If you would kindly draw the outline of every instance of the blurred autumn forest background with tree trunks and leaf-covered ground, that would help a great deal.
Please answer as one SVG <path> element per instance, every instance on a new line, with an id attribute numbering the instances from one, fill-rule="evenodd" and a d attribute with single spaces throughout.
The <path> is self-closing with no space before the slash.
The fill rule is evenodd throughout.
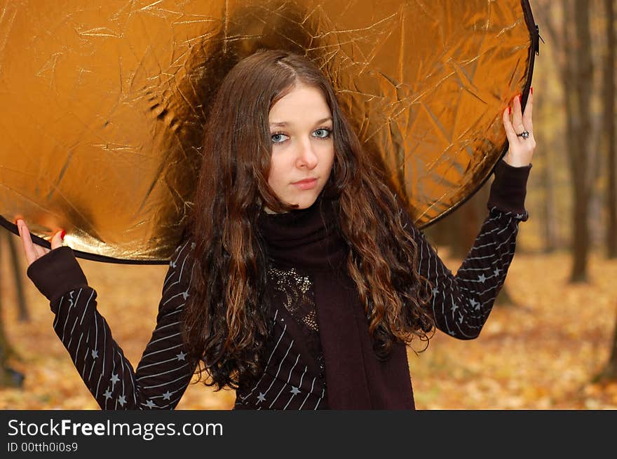
<path id="1" fill-rule="evenodd" d="M 438 332 L 427 350 L 409 350 L 419 409 L 617 409 L 617 0 L 530 3 L 542 41 L 529 220 L 480 337 Z M 487 214 L 490 184 L 426 229 L 453 273 Z M 0 232 L 0 409 L 98 409 L 19 242 Z M 167 266 L 80 263 L 136 366 Z M 234 397 L 193 384 L 178 409 L 230 409 Z"/>

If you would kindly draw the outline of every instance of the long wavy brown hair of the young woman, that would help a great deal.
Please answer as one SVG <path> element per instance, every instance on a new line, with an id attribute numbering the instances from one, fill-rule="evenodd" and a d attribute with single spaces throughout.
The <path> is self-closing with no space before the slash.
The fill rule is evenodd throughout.
<path id="1" fill-rule="evenodd" d="M 323 193 L 339 206 L 347 266 L 369 318 L 378 357 L 395 340 L 428 343 L 433 319 L 424 306 L 430 283 L 419 275 L 416 243 L 401 221 L 401 204 L 362 149 L 330 81 L 305 57 L 259 51 L 236 64 L 212 104 L 203 164 L 189 221 L 194 242 L 191 294 L 183 334 L 204 383 L 236 389 L 263 371 L 266 254 L 255 224 L 264 206 L 288 212 L 268 184 L 269 111 L 294 85 L 319 88 L 332 111 L 334 165 Z"/>

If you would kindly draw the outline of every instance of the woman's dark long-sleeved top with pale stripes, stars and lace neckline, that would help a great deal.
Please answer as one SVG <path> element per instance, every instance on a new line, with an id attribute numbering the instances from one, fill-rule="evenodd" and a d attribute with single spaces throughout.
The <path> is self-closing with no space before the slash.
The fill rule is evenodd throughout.
<path id="1" fill-rule="evenodd" d="M 419 271 L 433 285 L 430 310 L 438 329 L 471 339 L 491 311 L 515 252 L 518 224 L 526 221 L 524 198 L 531 165 L 500 160 L 480 233 L 456 275 L 442 263 L 422 231 L 407 230 L 418 244 Z M 50 300 L 53 327 L 81 378 L 102 409 L 173 409 L 194 368 L 187 364 L 179 315 L 189 296 L 193 247 L 177 247 L 163 282 L 156 328 L 136 371 L 97 312 L 72 249 L 60 247 L 34 261 L 28 276 Z M 311 275 L 293 267 L 269 266 L 273 330 L 262 378 L 236 391 L 236 409 L 327 409 L 327 374 L 320 345 Z"/>

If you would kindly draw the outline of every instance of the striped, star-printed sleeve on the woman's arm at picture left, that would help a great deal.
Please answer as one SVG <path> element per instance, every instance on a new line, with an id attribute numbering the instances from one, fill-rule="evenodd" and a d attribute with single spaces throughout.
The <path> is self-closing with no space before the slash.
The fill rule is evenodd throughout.
<path id="1" fill-rule="evenodd" d="M 28 276 L 49 300 L 53 328 L 101 409 L 174 409 L 194 368 L 189 366 L 179 327 L 193 265 L 184 242 L 176 249 L 163 283 L 156 329 L 133 371 L 97 311 L 72 249 L 59 247 L 32 263 Z"/>

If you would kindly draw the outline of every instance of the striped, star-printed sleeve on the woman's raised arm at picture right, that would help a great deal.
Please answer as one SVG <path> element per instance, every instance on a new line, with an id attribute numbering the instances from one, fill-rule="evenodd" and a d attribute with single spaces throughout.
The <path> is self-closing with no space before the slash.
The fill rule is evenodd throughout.
<path id="1" fill-rule="evenodd" d="M 530 170 L 531 165 L 513 167 L 503 160 L 496 165 L 489 213 L 456 275 L 423 232 L 408 225 L 418 245 L 419 273 L 433 284 L 430 313 L 435 326 L 450 336 L 476 338 L 489 317 L 514 257 L 518 224 L 529 217 L 524 198 Z"/>

